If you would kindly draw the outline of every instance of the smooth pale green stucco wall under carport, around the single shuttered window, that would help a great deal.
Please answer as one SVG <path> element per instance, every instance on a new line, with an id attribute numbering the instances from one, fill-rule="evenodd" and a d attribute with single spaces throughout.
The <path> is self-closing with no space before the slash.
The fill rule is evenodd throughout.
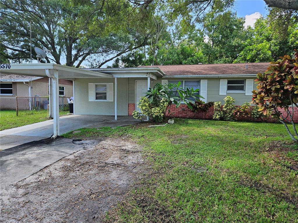
<path id="1" fill-rule="evenodd" d="M 114 101 L 89 101 L 88 83 L 114 83 L 114 78 L 77 78 L 75 80 L 75 114 L 115 114 Z M 117 78 L 117 114 L 128 115 L 128 78 Z"/>

